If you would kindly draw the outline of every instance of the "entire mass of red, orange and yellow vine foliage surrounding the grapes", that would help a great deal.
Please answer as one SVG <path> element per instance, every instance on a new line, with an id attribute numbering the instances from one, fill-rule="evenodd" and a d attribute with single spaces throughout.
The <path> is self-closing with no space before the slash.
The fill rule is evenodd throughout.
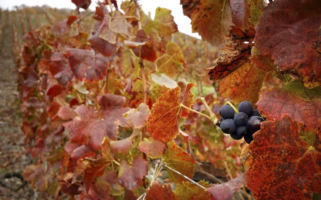
<path id="1" fill-rule="evenodd" d="M 320 1 L 181 0 L 207 43 L 178 33 L 165 8 L 151 19 L 108 0 L 84 16 L 92 2 L 72 2 L 21 47 L 22 131 L 37 160 L 24 176 L 40 198 L 321 193 Z M 214 124 L 227 100 L 267 117 L 249 145 Z"/>

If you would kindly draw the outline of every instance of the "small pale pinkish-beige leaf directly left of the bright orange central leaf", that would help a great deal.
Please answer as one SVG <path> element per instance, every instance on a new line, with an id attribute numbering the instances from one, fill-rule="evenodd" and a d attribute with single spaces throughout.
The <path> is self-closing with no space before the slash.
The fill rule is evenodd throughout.
<path id="1" fill-rule="evenodd" d="M 128 124 L 133 128 L 142 128 L 147 123 L 149 112 L 150 110 L 146 104 L 139 104 L 137 109 L 132 108 L 126 113 Z"/>

